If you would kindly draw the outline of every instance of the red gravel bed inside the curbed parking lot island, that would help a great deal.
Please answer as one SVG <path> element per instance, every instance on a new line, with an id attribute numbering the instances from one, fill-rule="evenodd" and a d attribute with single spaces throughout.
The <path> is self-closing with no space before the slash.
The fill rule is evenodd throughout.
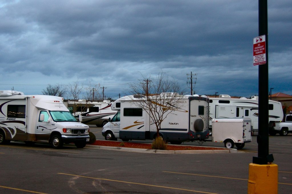
<path id="1" fill-rule="evenodd" d="M 118 142 L 118 141 L 96 140 L 95 143 L 89 144 L 89 145 L 152 149 L 151 144 Z M 175 146 L 175 145 L 167 144 L 167 150 L 223 150 L 223 149 L 225 148 L 202 147 L 202 146 Z"/>

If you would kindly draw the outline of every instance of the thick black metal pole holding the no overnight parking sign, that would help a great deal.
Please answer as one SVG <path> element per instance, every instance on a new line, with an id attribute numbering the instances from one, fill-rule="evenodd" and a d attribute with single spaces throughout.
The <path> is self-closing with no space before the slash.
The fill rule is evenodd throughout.
<path id="1" fill-rule="evenodd" d="M 258 73 L 258 157 L 253 157 L 255 164 L 267 164 L 274 161 L 273 155 L 269 155 L 269 84 L 268 84 L 268 19 L 267 0 L 258 1 L 258 26 L 259 36 L 265 35 L 266 64 L 259 65 Z"/>

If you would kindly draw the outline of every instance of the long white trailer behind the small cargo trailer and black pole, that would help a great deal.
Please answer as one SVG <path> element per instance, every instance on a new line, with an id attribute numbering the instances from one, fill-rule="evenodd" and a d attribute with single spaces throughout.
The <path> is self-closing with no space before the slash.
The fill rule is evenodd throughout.
<path id="1" fill-rule="evenodd" d="M 212 119 L 215 118 L 250 118 L 251 130 L 258 130 L 258 97 L 231 98 L 229 95 L 220 95 L 219 98 L 210 98 L 210 134 L 212 133 Z M 283 110 L 280 102 L 269 100 L 269 122 L 282 121 Z"/>

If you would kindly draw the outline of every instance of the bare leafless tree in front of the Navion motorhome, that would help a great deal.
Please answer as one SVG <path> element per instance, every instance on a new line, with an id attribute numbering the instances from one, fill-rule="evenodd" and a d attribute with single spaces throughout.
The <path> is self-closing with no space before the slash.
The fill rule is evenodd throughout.
<path id="1" fill-rule="evenodd" d="M 178 82 L 170 80 L 162 72 L 155 78 L 143 77 L 138 83 L 129 84 L 129 87 L 130 93 L 134 95 L 133 104 L 149 114 L 156 126 L 157 137 L 159 137 L 159 130 L 164 119 L 182 107 L 178 103 L 183 98 L 183 95 L 180 95 Z"/>

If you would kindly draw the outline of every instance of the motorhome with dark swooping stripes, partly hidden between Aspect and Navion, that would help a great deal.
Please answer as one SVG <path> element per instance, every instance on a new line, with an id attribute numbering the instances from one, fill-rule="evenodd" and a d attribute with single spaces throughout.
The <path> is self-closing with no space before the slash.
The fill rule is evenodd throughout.
<path id="1" fill-rule="evenodd" d="M 109 117 L 116 114 L 117 111 L 112 110 L 111 105 L 109 100 L 103 102 L 68 101 L 68 109 L 76 119 L 81 115 L 82 123 L 96 126 L 104 126 L 109 121 Z"/>

